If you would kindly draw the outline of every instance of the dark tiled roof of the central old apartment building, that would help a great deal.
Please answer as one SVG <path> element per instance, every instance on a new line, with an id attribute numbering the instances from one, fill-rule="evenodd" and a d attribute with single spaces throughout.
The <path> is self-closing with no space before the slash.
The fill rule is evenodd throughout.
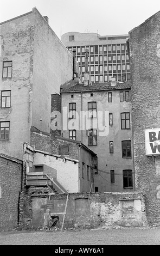
<path id="1" fill-rule="evenodd" d="M 88 86 L 84 86 L 84 84 L 74 84 L 68 83 L 65 87 L 61 87 L 61 93 L 71 93 L 71 92 L 88 92 L 88 91 L 100 91 L 100 90 L 119 90 L 119 89 L 130 89 L 131 82 L 116 82 L 116 85 L 111 85 L 111 82 L 107 83 L 92 83 Z"/>

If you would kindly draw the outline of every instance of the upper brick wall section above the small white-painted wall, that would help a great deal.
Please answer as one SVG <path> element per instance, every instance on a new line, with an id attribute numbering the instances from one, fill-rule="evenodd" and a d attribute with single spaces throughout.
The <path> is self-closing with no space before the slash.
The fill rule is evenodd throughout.
<path id="1" fill-rule="evenodd" d="M 59 146 L 68 145 L 68 157 L 78 160 L 79 147 L 78 144 L 71 140 L 65 140 L 62 137 L 47 136 L 42 133 L 31 132 L 30 145 L 34 145 L 35 149 L 46 151 L 48 153 L 59 155 Z"/>

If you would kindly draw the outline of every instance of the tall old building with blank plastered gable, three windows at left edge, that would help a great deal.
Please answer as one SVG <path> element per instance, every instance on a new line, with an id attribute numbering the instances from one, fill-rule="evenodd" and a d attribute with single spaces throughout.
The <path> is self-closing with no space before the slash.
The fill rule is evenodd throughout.
<path id="1" fill-rule="evenodd" d="M 73 78 L 73 57 L 36 8 L 0 23 L 0 152 L 22 159 L 30 127 L 50 132 L 51 94 Z"/>

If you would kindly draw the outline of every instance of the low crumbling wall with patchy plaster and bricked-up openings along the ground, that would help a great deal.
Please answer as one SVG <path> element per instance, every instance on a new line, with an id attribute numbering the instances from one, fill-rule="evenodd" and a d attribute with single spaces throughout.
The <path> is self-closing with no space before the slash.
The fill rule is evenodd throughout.
<path id="1" fill-rule="evenodd" d="M 45 225 L 49 227 L 49 211 L 51 216 L 59 217 L 56 227 L 61 228 L 63 215 L 58 212 L 65 211 L 66 199 L 67 194 L 55 194 L 49 201 L 47 194 L 37 194 L 34 191 L 30 193 L 33 228 L 39 229 Z M 25 212 L 24 219 L 28 216 L 27 211 Z M 63 228 L 146 225 L 145 200 L 142 193 L 105 192 L 91 193 L 90 196 L 89 193 L 69 193 Z"/>

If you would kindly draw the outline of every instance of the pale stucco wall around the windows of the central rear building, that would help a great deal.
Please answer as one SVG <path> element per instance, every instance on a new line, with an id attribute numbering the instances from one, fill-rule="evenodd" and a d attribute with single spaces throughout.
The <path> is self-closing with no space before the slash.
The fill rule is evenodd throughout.
<path id="1" fill-rule="evenodd" d="M 81 93 L 62 93 L 62 121 L 66 119 L 63 116 L 63 107 L 69 107 L 69 103 L 76 102 L 76 111 L 79 114 L 79 127 L 76 129 L 76 139 L 87 145 L 94 153 L 98 156 L 98 172 L 99 174 L 95 177 L 95 186 L 99 188 L 99 191 L 124 191 L 123 188 L 123 169 L 131 169 L 133 173 L 133 188 L 127 189 L 125 191 L 134 191 L 134 168 L 133 168 L 133 143 L 132 143 L 132 119 L 131 119 L 131 101 L 120 102 L 119 92 L 130 91 L 130 89 L 103 91 L 103 92 L 82 92 Z M 108 102 L 108 92 L 112 92 L 112 102 Z M 71 98 L 71 94 L 74 97 Z M 97 146 L 88 146 L 88 137 L 86 135 L 86 128 L 80 130 L 80 111 L 87 112 L 87 102 L 96 101 L 97 102 L 97 112 L 107 111 L 106 121 L 106 131 L 107 135 L 99 136 Z M 82 104 L 82 108 L 81 108 Z M 130 124 L 131 129 L 121 130 L 120 113 L 130 112 Z M 108 113 L 113 114 L 113 125 L 109 127 L 108 125 Z M 95 120 L 95 119 L 94 119 Z M 72 121 L 72 120 L 71 120 Z M 64 122 L 62 122 L 63 125 Z M 63 126 L 62 126 L 63 129 Z M 68 130 L 63 130 L 63 136 L 68 137 Z M 129 159 L 124 159 L 121 152 L 121 141 L 131 140 L 131 151 L 132 157 Z M 110 153 L 110 141 L 113 141 L 114 153 Z M 110 170 L 114 170 L 115 182 L 111 184 Z"/>

